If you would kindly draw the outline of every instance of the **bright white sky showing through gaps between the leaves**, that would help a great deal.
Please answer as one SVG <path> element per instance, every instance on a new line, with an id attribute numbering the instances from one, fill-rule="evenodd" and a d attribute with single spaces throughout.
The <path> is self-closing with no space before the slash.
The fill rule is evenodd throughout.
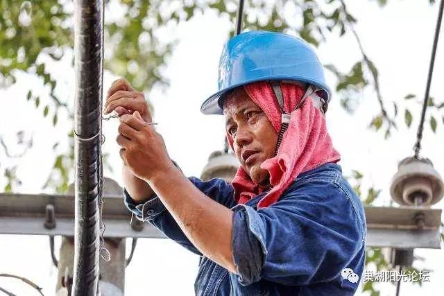
<path id="1" fill-rule="evenodd" d="M 407 106 L 403 99 L 406 94 L 416 94 L 418 98 L 424 96 L 438 5 L 429 6 L 428 1 L 392 0 L 381 9 L 376 2 L 347 1 L 350 12 L 359 21 L 356 28 L 364 49 L 379 69 L 382 95 L 387 107 L 391 107 L 391 101 Z M 223 118 L 205 116 L 199 110 L 205 98 L 216 91 L 219 55 L 231 26 L 228 19 L 207 12 L 168 32 L 169 37 L 179 40 L 164 69 L 171 84 L 166 92 L 153 89 L 148 94 L 155 107 L 157 131 L 164 137 L 169 155 L 186 175 L 199 176 L 210 153 L 223 148 Z M 444 85 L 440 83 L 444 77 L 443 46 L 441 38 L 431 89 L 431 96 L 441 102 L 444 101 Z M 317 52 L 323 64 L 335 64 L 344 71 L 361 58 L 357 43 L 350 34 L 341 38 L 330 36 Z M 62 61 L 65 67 L 51 65 L 51 70 L 60 78 L 60 92 L 68 101 L 72 101 L 74 71 L 69 61 L 67 55 Z M 105 72 L 105 90 L 115 78 Z M 327 83 L 334 85 L 334 82 L 334 77 L 327 73 Z M 42 176 L 49 174 L 53 164 L 52 144 L 56 139 L 64 139 L 70 128 L 62 112 L 57 128 L 52 127 L 51 118 L 43 119 L 41 112 L 35 112 L 33 104 L 25 99 L 30 86 L 35 94 L 46 93 L 47 89 L 42 89 L 36 78 L 26 75 L 19 75 L 17 84 L 9 89 L 0 89 L 2 107 L 6 111 L 0 120 L 0 134 L 13 143 L 15 133 L 26 130 L 33 133 L 35 139 L 33 149 L 21 159 L 8 160 L 1 155 L 2 165 L 19 165 L 17 174 L 23 186 L 17 188 L 18 193 L 42 192 L 42 185 L 46 181 L 46 177 Z M 379 112 L 375 93 L 371 89 L 364 92 L 354 114 L 345 112 L 337 98 L 334 94 L 327 112 L 327 125 L 334 146 L 342 155 L 340 164 L 343 171 L 345 175 L 353 169 L 364 173 L 364 187 L 382 189 L 376 204 L 388 206 L 391 200 L 388 188 L 398 162 L 412 155 L 420 104 L 414 101 L 407 103 L 413 114 L 412 128 L 406 128 L 400 116 L 400 128 L 386 141 L 382 133 L 368 129 L 368 123 Z M 402 107 L 400 112 L 402 114 Z M 444 126 L 441 116 L 438 121 L 436 134 L 430 131 L 426 122 L 422 155 L 432 159 L 436 170 L 443 173 Z M 103 123 L 106 137 L 103 151 L 110 153 L 110 163 L 114 169 L 114 173 L 105 175 L 123 186 L 119 146 L 114 141 L 117 125 L 117 121 Z M 61 143 L 58 149 L 63 151 L 64 148 L 67 148 L 67 143 Z M 4 186 L 3 182 L 0 180 L 1 186 Z M 442 209 L 443 204 L 441 201 L 433 207 Z M 0 273 L 28 277 L 44 288 L 45 295 L 54 295 L 57 270 L 49 256 L 48 238 L 0 236 L 0 240 Z M 60 239 L 56 239 L 56 250 L 59 245 Z M 400 295 L 441 294 L 443 251 L 416 250 L 415 254 L 425 258 L 425 261 L 413 263 L 416 268 L 433 270 L 430 282 L 424 283 L 420 289 L 411 283 L 402 283 Z M 126 295 L 194 295 L 197 269 L 198 256 L 176 243 L 163 239 L 139 240 L 133 261 L 126 269 Z M 0 277 L 0 287 L 17 295 L 37 295 L 25 284 L 11 279 Z M 379 288 L 382 296 L 395 294 L 393 284 L 381 284 Z"/>

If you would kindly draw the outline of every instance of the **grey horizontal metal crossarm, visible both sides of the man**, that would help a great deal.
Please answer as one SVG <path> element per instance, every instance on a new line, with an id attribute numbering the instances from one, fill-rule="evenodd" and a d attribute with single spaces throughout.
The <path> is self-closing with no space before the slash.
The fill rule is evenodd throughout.
<path id="1" fill-rule="evenodd" d="M 165 238 L 150 223 L 133 219 L 122 196 L 105 196 L 107 238 Z M 56 227 L 46 228 L 46 205 L 54 207 Z M 364 207 L 368 247 L 440 248 L 441 209 Z M 46 223 L 47 224 L 47 223 Z M 74 195 L 0 194 L 0 234 L 74 235 Z"/>

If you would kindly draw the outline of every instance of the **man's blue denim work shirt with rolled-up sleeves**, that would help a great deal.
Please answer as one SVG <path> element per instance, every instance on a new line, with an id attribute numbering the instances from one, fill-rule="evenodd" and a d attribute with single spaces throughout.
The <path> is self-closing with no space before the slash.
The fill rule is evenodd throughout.
<path id="1" fill-rule="evenodd" d="M 203 256 L 159 198 L 137 204 L 126 189 L 123 193 L 126 207 L 139 220 L 148 220 L 200 256 L 196 295 L 355 294 L 364 270 L 366 219 L 341 166 L 325 164 L 300 174 L 278 202 L 259 210 L 257 202 L 265 193 L 236 204 L 231 184 L 189 179 L 234 212 L 232 253 L 237 274 Z"/>

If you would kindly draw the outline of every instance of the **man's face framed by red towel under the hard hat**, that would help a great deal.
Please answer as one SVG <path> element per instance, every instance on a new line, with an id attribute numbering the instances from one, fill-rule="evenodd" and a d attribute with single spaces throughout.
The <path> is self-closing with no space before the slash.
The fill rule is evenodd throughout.
<path id="1" fill-rule="evenodd" d="M 223 104 L 225 128 L 233 139 L 234 155 L 257 184 L 268 183 L 268 171 L 260 168 L 262 162 L 274 157 L 278 133 L 264 111 L 238 87 Z"/>

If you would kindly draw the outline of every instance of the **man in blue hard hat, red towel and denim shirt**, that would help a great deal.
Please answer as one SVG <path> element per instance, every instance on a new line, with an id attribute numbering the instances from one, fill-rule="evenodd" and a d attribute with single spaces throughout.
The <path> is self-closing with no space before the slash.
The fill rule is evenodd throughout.
<path id="1" fill-rule="evenodd" d="M 225 116 L 240 166 L 231 183 L 204 182 L 170 159 L 144 95 L 126 80 L 112 84 L 105 113 L 119 114 L 126 207 L 200 256 L 196 295 L 355 294 L 366 220 L 327 132 L 330 98 L 303 40 L 232 37 L 219 91 L 201 111 Z"/>

